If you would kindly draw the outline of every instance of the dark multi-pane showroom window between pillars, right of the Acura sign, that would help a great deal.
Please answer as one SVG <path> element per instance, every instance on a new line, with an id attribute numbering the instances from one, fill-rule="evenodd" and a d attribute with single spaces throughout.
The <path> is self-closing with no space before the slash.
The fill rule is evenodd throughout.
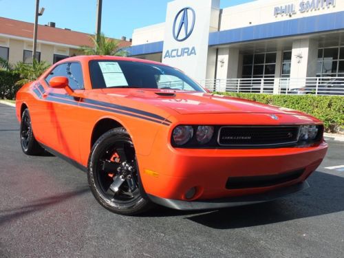
<path id="1" fill-rule="evenodd" d="M 275 69 L 276 52 L 243 56 L 242 78 L 274 78 Z"/>

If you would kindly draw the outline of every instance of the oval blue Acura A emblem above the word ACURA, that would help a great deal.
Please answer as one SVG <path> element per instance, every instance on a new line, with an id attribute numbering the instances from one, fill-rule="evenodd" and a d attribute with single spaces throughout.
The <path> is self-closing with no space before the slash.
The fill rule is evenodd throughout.
<path id="1" fill-rule="evenodd" d="M 193 33 L 196 14 L 193 8 L 186 7 L 178 12 L 173 23 L 173 38 L 176 41 L 185 41 Z"/>

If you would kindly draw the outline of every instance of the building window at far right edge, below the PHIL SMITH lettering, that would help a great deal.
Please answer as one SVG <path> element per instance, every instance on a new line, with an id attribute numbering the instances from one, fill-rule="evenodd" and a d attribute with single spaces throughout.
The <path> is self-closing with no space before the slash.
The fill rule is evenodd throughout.
<path id="1" fill-rule="evenodd" d="M 318 50 L 317 77 L 344 77 L 344 47 Z"/>

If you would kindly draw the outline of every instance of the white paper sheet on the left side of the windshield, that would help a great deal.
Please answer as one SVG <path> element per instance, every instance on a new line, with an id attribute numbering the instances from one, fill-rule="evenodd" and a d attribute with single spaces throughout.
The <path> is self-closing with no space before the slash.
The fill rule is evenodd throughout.
<path id="1" fill-rule="evenodd" d="M 106 87 L 129 86 L 117 62 L 99 62 Z"/>

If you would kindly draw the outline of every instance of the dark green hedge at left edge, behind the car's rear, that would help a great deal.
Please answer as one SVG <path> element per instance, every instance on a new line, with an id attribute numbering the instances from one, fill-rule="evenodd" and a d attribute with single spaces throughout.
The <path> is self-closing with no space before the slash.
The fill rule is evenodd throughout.
<path id="1" fill-rule="evenodd" d="M 14 99 L 20 88 L 15 85 L 18 80 L 20 80 L 19 74 L 0 69 L 0 98 Z"/>

